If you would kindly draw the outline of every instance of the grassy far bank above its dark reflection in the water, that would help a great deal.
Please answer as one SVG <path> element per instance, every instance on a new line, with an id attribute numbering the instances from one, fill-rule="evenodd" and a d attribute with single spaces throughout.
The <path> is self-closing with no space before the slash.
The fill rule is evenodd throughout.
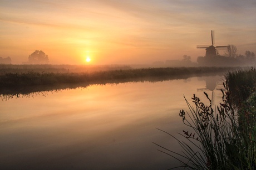
<path id="1" fill-rule="evenodd" d="M 42 68 L 40 68 L 42 69 Z M 138 78 L 178 78 L 182 75 L 203 75 L 207 73 L 218 73 L 232 68 L 146 68 L 146 69 L 115 69 L 92 72 L 50 72 L 49 70 L 23 71 L 19 69 L 16 73 L 2 71 L 0 74 L 0 87 L 20 87 L 35 85 L 57 85 L 75 83 L 108 83 L 111 80 L 126 80 Z M 1 70 L 1 69 L 0 69 Z M 2 69 L 3 70 L 3 69 Z M 25 69 L 26 70 L 26 69 Z M 50 69 L 51 70 L 51 69 Z"/>

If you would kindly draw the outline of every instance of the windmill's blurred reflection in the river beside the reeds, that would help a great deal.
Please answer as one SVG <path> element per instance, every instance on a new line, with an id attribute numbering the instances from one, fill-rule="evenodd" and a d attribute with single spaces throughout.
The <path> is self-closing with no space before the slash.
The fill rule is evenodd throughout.
<path id="1" fill-rule="evenodd" d="M 215 99 L 216 97 L 219 97 L 219 99 L 221 99 L 221 95 L 220 96 L 215 96 L 215 92 L 220 92 L 220 89 L 223 88 L 223 83 L 222 81 L 220 81 L 220 76 L 209 76 L 209 77 L 205 77 L 204 78 L 206 86 L 203 89 L 197 89 L 198 91 L 205 91 L 206 93 L 208 93 L 206 90 L 210 90 L 211 91 L 211 104 L 215 105 Z"/>

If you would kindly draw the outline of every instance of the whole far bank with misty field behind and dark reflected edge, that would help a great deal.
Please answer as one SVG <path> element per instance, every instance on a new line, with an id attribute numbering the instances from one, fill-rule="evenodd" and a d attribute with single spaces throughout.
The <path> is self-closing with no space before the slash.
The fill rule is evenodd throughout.
<path id="1" fill-rule="evenodd" d="M 0 94 L 18 95 L 91 84 L 163 81 L 223 73 L 232 68 L 140 68 L 130 66 L 0 65 Z"/>

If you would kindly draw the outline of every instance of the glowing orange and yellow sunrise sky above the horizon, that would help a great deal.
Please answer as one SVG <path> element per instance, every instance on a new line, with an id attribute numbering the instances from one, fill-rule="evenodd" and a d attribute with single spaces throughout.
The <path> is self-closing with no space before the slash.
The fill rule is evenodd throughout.
<path id="1" fill-rule="evenodd" d="M 50 64 L 151 64 L 205 55 L 196 45 L 256 53 L 253 0 L 0 0 L 0 56 L 21 64 L 43 50 Z"/>

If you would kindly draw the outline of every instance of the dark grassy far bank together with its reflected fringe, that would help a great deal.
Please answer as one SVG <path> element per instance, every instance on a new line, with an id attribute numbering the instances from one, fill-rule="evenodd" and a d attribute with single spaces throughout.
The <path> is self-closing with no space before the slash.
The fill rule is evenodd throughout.
<path id="1" fill-rule="evenodd" d="M 17 95 L 37 91 L 86 87 L 93 84 L 126 83 L 132 81 L 164 81 L 187 79 L 191 76 L 223 74 L 237 67 L 198 67 L 198 68 L 141 68 L 94 71 L 92 73 L 48 73 L 21 71 L 0 75 L 0 94 Z"/>

